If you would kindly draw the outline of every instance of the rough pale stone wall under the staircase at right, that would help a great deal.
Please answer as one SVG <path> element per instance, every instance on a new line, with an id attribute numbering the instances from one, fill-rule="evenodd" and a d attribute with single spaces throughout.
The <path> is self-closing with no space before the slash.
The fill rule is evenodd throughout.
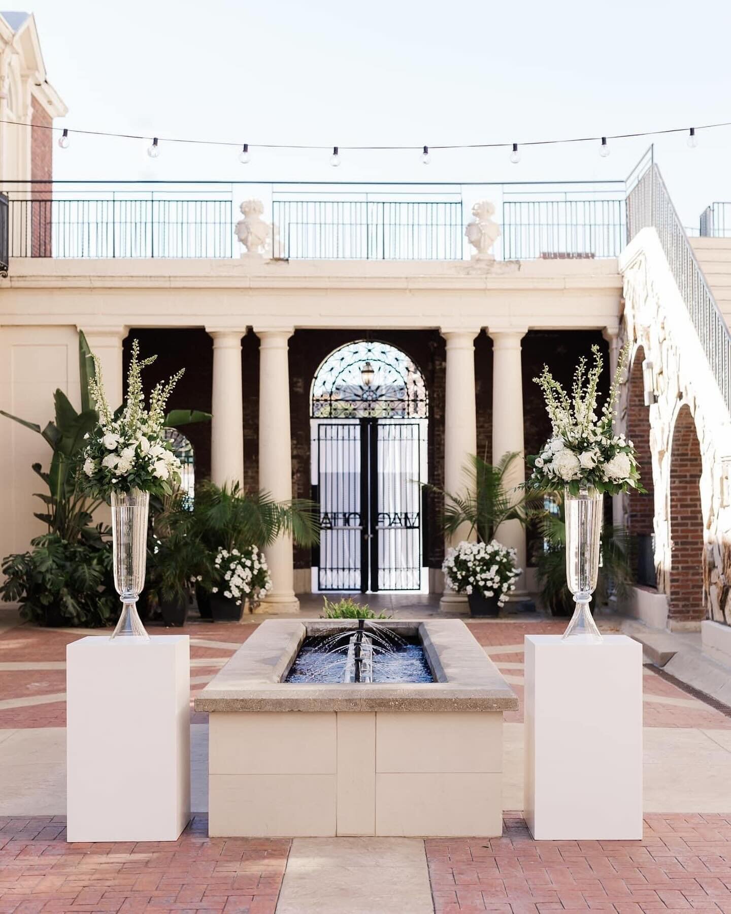
<path id="1" fill-rule="evenodd" d="M 642 238 L 642 236 L 644 236 Z M 654 399 L 647 409 L 652 448 L 652 484 L 654 489 L 654 561 L 658 590 L 669 601 L 671 628 L 698 627 L 686 620 L 673 624 L 673 546 L 678 555 L 679 543 L 673 543 L 671 479 L 673 443 L 681 436 L 679 415 L 690 410 L 700 449 L 700 506 L 703 526 L 703 575 L 697 574 L 705 614 L 715 622 L 731 624 L 731 505 L 729 505 L 729 462 L 731 461 L 731 417 L 715 376 L 705 356 L 694 325 L 674 281 L 667 260 L 652 229 L 644 229 L 630 243 L 620 260 L 624 275 L 623 342 L 629 342 L 630 367 L 637 358 L 644 359 L 645 384 L 652 384 Z M 652 364 L 652 369 L 646 365 Z M 631 372 L 628 372 L 630 377 Z M 637 377 L 637 375 L 635 375 Z M 619 422 L 627 428 L 629 384 L 622 386 Z M 687 426 L 687 414 L 683 415 Z M 687 433 L 687 432 L 685 432 Z M 646 477 L 647 468 L 644 469 Z M 678 481 L 675 480 L 675 498 Z M 694 493 L 689 493 L 693 495 Z M 697 495 L 696 495 L 697 500 Z M 676 502 L 676 505 L 689 504 Z M 681 514 L 685 511 L 681 507 Z M 692 514 L 689 508 L 688 513 Z M 678 508 L 675 509 L 678 514 Z M 629 499 L 620 499 L 620 515 L 625 526 L 629 520 Z M 683 523 L 676 522 L 676 539 L 682 538 Z M 700 533 L 698 534 L 700 537 Z M 681 565 L 680 559 L 677 566 Z M 683 573 L 676 568 L 675 574 Z M 702 583 L 701 583 L 702 582 Z M 695 586 L 695 585 L 694 585 Z"/>

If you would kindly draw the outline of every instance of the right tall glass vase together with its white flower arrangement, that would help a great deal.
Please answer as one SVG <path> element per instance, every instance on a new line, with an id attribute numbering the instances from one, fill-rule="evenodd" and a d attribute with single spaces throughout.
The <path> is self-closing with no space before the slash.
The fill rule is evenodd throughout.
<path id="1" fill-rule="evenodd" d="M 564 637 L 576 635 L 588 643 L 601 641 L 588 604 L 599 575 L 603 496 L 644 491 L 632 442 L 612 428 L 628 348 L 620 351 L 609 396 L 599 412 L 602 358 L 599 346 L 591 352 L 590 369 L 585 357 L 578 361 L 570 397 L 547 366 L 534 378 L 546 399 L 551 437 L 539 454 L 527 458 L 533 472 L 525 483 L 537 492 L 564 489 L 567 585 L 576 602 Z"/>

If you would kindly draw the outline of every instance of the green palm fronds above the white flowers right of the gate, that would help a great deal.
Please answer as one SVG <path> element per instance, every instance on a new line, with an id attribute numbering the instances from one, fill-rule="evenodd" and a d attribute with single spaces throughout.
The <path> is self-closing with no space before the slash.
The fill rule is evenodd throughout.
<path id="1" fill-rule="evenodd" d="M 441 527 L 445 536 L 452 537 L 467 527 L 469 533 L 465 538 L 476 532 L 482 542 L 489 543 L 504 521 L 527 522 L 535 505 L 543 505 L 543 497 L 522 489 L 508 488 L 506 476 L 518 459 L 520 455 L 517 452 L 506 453 L 497 466 L 493 466 L 482 457 L 470 454 L 469 463 L 464 468 L 467 483 L 464 493 L 453 494 L 429 486 L 444 497 Z"/>

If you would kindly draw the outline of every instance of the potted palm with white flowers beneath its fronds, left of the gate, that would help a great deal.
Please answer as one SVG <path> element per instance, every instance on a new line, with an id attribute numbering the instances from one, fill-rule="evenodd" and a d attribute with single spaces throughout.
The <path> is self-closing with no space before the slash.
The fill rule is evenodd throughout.
<path id="1" fill-rule="evenodd" d="M 261 550 L 281 534 L 291 535 L 300 546 L 313 546 L 319 519 L 317 505 L 306 499 L 277 502 L 267 492 L 245 492 L 238 483 L 206 482 L 196 489 L 192 530 L 206 560 L 196 585 L 201 614 L 238 621 L 247 605 L 270 590 Z"/>

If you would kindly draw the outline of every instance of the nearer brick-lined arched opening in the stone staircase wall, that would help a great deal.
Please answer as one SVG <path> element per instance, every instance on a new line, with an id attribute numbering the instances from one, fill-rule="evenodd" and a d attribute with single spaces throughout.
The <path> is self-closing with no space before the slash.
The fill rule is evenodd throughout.
<path id="1" fill-rule="evenodd" d="M 705 616 L 701 473 L 701 449 L 693 415 L 683 406 L 675 420 L 670 455 L 669 614 L 675 622 L 694 622 Z"/>

